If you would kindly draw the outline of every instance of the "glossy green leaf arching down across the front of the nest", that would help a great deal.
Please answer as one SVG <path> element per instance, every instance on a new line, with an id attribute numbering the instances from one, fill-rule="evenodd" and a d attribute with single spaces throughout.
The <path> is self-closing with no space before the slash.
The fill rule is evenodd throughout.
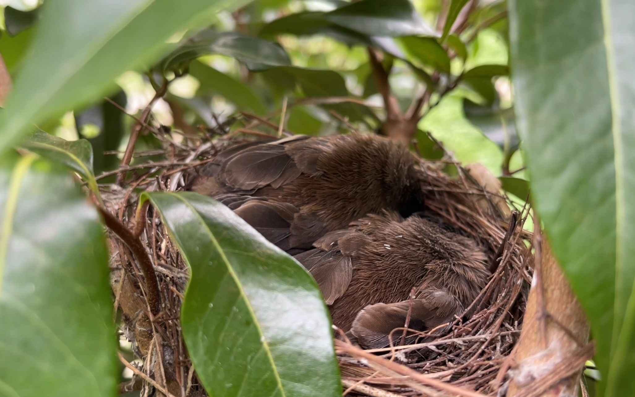
<path id="1" fill-rule="evenodd" d="M 341 396 L 328 311 L 309 273 L 200 194 L 150 199 L 192 277 L 182 327 L 213 396 Z"/>

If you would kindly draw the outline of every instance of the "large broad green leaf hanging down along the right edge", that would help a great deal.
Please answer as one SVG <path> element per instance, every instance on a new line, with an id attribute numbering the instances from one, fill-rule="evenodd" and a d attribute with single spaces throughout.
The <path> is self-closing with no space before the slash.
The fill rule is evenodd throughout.
<path id="1" fill-rule="evenodd" d="M 535 208 L 591 322 L 605 396 L 635 394 L 635 2 L 510 7 Z"/>

